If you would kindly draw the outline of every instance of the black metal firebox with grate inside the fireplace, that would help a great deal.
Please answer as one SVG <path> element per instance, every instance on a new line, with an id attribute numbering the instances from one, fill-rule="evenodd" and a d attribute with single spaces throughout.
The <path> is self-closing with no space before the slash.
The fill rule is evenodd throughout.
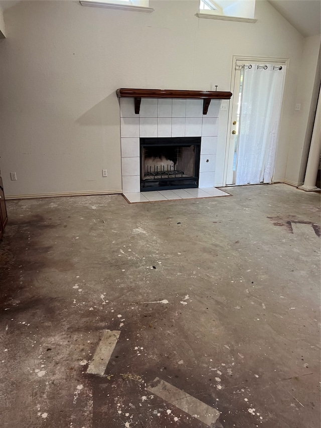
<path id="1" fill-rule="evenodd" d="M 201 137 L 140 138 L 140 191 L 199 187 Z"/>

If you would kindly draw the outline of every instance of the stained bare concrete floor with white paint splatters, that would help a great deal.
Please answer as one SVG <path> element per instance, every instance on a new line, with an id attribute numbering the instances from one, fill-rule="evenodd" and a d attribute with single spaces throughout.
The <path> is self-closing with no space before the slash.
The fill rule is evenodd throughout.
<path id="1" fill-rule="evenodd" d="M 1 428 L 320 426 L 319 195 L 229 191 L 8 201 Z M 107 329 L 114 352 L 89 374 Z M 156 377 L 219 418 L 150 393 Z"/>

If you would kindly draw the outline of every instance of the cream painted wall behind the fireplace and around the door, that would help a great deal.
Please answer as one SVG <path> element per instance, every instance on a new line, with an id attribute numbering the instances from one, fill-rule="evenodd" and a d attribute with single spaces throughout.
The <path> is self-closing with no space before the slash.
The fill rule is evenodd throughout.
<path id="1" fill-rule="evenodd" d="M 289 131 L 302 36 L 265 1 L 257 2 L 256 24 L 198 19 L 197 0 L 149 5 L 152 14 L 73 1 L 24 1 L 6 10 L 0 153 L 7 195 L 120 191 L 115 90 L 230 90 L 233 55 L 290 59 L 276 165 L 284 178 L 289 145 L 297 144 Z M 228 115 L 221 116 L 217 185 L 227 139 Z"/>

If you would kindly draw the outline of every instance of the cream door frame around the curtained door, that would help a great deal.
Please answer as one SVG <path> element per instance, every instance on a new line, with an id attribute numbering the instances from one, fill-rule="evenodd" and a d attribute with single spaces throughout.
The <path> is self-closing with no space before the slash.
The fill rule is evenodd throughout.
<path id="1" fill-rule="evenodd" d="M 250 61 L 250 62 L 273 62 L 273 63 L 280 63 L 284 64 L 286 66 L 286 71 L 288 71 L 288 65 L 289 65 L 289 58 L 273 58 L 273 57 L 250 57 L 250 56 L 244 56 L 244 55 L 233 55 L 232 60 L 232 71 L 231 71 L 231 83 L 230 83 L 230 91 L 233 93 L 232 102 L 229 103 L 229 113 L 228 113 L 228 124 L 227 124 L 227 133 L 226 133 L 226 145 L 225 145 L 225 157 L 224 157 L 224 172 L 223 172 L 223 187 L 227 186 L 235 186 L 235 184 L 226 184 L 227 181 L 227 174 L 228 174 L 228 163 L 229 163 L 229 153 L 230 153 L 230 135 L 232 132 L 232 107 L 234 104 L 234 86 L 235 86 L 235 74 L 236 74 L 236 61 Z M 288 72 L 285 74 L 285 81 L 284 81 L 284 92 L 283 92 L 283 100 L 284 100 L 284 93 L 287 83 L 287 76 Z M 238 96 L 238 94 L 237 94 Z M 280 123 L 283 116 L 283 106 L 284 102 L 282 100 L 282 106 L 281 106 L 281 115 L 280 115 Z M 278 141 L 276 150 L 278 147 Z"/>

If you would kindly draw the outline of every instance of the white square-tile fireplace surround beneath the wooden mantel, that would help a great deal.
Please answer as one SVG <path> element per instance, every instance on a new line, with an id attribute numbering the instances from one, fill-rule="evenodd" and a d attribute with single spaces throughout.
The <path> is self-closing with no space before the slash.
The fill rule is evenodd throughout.
<path id="1" fill-rule="evenodd" d="M 140 192 L 140 137 L 201 136 L 199 187 L 214 187 L 220 100 L 211 101 L 206 115 L 202 99 L 142 98 L 139 114 L 134 98 L 119 101 L 123 193 Z"/>

